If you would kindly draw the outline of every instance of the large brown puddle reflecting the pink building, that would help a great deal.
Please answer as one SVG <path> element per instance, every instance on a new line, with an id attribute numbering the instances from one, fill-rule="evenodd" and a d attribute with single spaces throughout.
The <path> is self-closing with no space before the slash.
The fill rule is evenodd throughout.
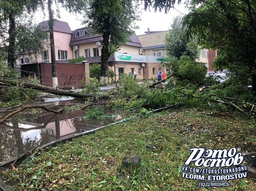
<path id="1" fill-rule="evenodd" d="M 14 115 L 5 124 L 0 124 L 0 162 L 18 156 L 35 146 L 44 145 L 65 136 L 91 130 L 115 121 L 114 117 L 84 120 L 87 111 L 78 110 L 68 114 Z M 104 109 L 105 114 L 127 113 L 120 110 Z"/>

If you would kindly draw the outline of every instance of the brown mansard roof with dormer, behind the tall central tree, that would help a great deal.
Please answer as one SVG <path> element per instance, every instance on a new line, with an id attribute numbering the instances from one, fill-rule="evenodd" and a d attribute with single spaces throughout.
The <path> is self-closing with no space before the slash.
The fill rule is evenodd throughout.
<path id="1" fill-rule="evenodd" d="M 79 28 L 77 30 L 81 30 L 81 29 L 86 29 L 86 27 L 84 28 Z M 95 35 L 84 35 L 84 36 L 77 36 L 75 37 L 75 32 L 77 30 L 74 30 L 70 39 L 70 43 L 69 45 L 72 47 L 74 45 L 80 45 L 80 44 L 86 44 L 86 43 L 91 43 L 91 42 L 97 42 L 97 41 L 102 41 L 103 38 L 101 35 L 99 34 L 95 34 Z M 136 47 L 142 47 L 140 40 L 138 39 L 137 35 L 134 33 L 133 35 L 131 35 L 131 41 L 127 41 L 126 44 L 127 45 L 131 45 L 131 46 L 136 46 Z"/>

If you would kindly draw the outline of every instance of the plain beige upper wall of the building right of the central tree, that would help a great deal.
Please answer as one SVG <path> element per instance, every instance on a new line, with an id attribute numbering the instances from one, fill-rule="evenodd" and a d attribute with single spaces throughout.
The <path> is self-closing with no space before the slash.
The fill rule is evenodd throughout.
<path id="1" fill-rule="evenodd" d="M 139 38 L 143 47 L 157 45 L 157 44 L 164 44 L 165 43 L 164 42 L 165 41 L 165 35 L 167 33 L 169 33 L 169 30 L 138 35 L 138 38 Z"/>

